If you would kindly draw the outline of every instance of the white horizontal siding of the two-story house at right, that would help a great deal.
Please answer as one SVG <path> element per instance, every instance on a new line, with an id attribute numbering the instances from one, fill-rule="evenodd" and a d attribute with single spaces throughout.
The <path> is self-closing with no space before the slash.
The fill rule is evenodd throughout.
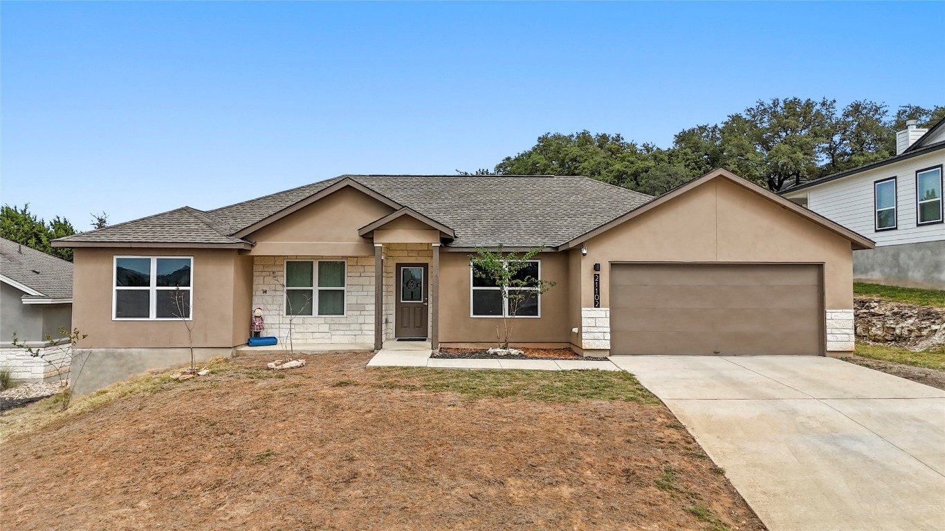
<path id="1" fill-rule="evenodd" d="M 945 150 L 887 164 L 799 191 L 807 193 L 807 208 L 859 232 L 877 247 L 945 240 L 945 224 L 916 224 L 916 171 L 945 163 Z M 897 229 L 875 230 L 873 183 L 896 177 Z M 787 197 L 798 197 L 788 194 Z"/>

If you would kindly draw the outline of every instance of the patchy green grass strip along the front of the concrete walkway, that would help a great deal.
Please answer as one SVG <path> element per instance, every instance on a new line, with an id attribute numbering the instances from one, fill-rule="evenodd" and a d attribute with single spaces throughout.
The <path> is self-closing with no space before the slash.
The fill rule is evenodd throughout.
<path id="1" fill-rule="evenodd" d="M 376 368 L 376 386 L 455 392 L 469 400 L 517 398 L 544 402 L 616 400 L 656 404 L 632 374 L 610 370 L 449 370 Z"/>

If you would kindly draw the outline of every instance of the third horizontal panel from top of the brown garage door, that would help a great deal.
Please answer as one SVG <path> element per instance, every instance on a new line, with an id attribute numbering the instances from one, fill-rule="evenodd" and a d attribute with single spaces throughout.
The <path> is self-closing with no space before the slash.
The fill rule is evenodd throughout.
<path id="1" fill-rule="evenodd" d="M 610 331 L 627 332 L 820 332 L 820 323 L 805 308 L 789 309 L 626 309 L 619 319 L 610 319 Z"/>

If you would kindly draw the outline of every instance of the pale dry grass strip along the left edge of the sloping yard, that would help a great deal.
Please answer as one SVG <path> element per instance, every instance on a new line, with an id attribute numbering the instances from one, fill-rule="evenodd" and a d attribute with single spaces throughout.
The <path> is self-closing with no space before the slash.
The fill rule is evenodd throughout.
<path id="1" fill-rule="evenodd" d="M 211 373 L 214 373 L 228 368 L 229 362 L 225 358 L 213 358 L 200 367 L 209 368 Z M 42 428 L 56 421 L 71 419 L 77 415 L 94 411 L 103 405 L 131 395 L 156 393 L 172 388 L 178 384 L 173 379 L 173 375 L 179 372 L 180 368 L 163 372 L 148 372 L 128 380 L 116 382 L 74 400 L 65 411 L 61 410 L 62 400 L 65 398 L 64 393 L 57 393 L 47 399 L 30 403 L 24 407 L 10 409 L 0 416 L 0 441 L 19 433 Z"/>

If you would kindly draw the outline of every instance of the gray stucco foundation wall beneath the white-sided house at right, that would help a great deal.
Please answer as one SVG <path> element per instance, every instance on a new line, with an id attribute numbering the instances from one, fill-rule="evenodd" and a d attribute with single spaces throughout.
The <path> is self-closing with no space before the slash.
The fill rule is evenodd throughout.
<path id="1" fill-rule="evenodd" d="M 945 289 L 945 240 L 854 250 L 853 279 Z"/>

